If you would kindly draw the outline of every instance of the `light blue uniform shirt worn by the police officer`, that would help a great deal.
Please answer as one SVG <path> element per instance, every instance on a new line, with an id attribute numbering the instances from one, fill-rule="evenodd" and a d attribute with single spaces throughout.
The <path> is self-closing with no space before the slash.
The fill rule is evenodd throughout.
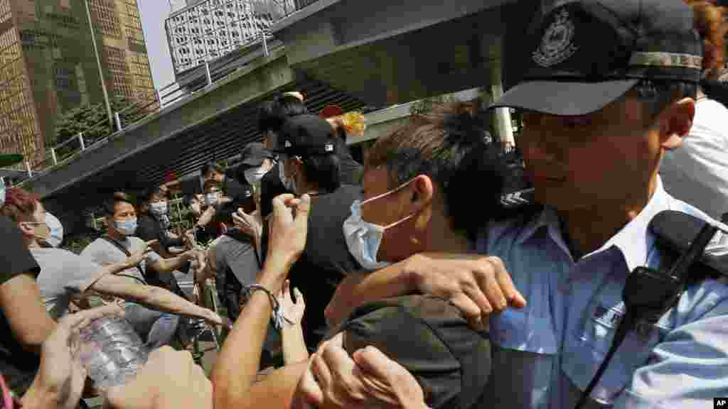
<path id="1" fill-rule="evenodd" d="M 660 264 L 648 224 L 662 210 L 708 220 L 658 181 L 644 210 L 576 263 L 554 210 L 490 226 L 478 251 L 502 258 L 528 305 L 491 316 L 488 407 L 574 408 L 612 344 L 628 274 Z M 587 408 L 619 409 L 713 408 L 713 397 L 728 397 L 727 283 L 690 287 L 655 327 L 628 334 L 591 397 Z"/>

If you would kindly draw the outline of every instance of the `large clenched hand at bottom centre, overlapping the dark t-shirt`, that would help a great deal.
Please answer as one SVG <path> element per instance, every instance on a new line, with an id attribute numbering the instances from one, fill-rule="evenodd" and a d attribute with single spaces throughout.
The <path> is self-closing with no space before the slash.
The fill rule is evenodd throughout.
<path id="1" fill-rule="evenodd" d="M 427 408 L 411 373 L 368 346 L 352 357 L 343 334 L 321 344 L 298 382 L 291 408 Z"/>

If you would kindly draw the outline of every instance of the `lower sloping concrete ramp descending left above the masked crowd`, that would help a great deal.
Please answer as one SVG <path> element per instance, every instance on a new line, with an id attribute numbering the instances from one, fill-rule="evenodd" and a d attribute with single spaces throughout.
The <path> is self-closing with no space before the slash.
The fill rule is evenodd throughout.
<path id="1" fill-rule="evenodd" d="M 346 110 L 364 103 L 296 73 L 285 47 L 262 51 L 250 63 L 142 122 L 90 146 L 47 172 L 22 183 L 39 194 L 67 229 L 85 223 L 83 209 L 98 206 L 113 191 L 162 183 L 167 172 L 183 176 L 205 162 L 225 159 L 253 140 L 258 103 L 274 93 L 301 90 L 317 111 L 328 104 Z"/>

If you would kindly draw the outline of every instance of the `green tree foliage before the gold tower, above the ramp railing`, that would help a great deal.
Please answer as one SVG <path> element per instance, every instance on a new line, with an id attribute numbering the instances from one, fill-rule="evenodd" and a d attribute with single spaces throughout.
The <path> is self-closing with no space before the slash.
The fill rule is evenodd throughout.
<path id="1" fill-rule="evenodd" d="M 119 112 L 122 127 L 138 122 L 149 112 L 148 109 L 145 109 L 143 102 L 124 97 L 116 97 L 111 100 L 111 111 Z M 76 138 L 79 132 L 83 132 L 86 146 L 116 132 L 116 124 L 114 124 L 112 130 L 111 125 L 108 123 L 108 114 L 104 103 L 79 106 L 61 114 L 55 124 L 55 143 L 52 143 L 52 145 L 56 146 L 66 142 L 66 140 Z M 77 148 L 79 148 L 79 144 L 71 142 L 63 146 L 56 154 L 60 156 L 60 159 Z"/>

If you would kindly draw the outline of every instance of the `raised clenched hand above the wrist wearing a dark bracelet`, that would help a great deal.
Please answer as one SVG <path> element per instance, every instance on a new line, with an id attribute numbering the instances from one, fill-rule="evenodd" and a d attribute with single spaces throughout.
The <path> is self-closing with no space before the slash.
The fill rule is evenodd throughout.
<path id="1" fill-rule="evenodd" d="M 282 194 L 273 199 L 267 260 L 282 261 L 287 267 L 298 260 L 306 247 L 310 207 L 311 197 L 307 194 L 301 199 L 292 194 Z"/>

